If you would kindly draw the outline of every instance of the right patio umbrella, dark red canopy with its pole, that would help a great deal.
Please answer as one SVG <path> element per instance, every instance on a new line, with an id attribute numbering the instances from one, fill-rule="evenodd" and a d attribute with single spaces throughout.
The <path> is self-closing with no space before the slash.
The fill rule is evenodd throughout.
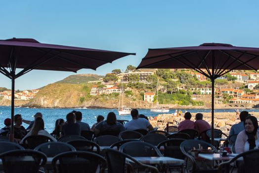
<path id="1" fill-rule="evenodd" d="M 212 143 L 214 142 L 214 83 L 231 70 L 258 70 L 259 48 L 223 43 L 149 49 L 139 68 L 189 68 L 212 81 Z"/>

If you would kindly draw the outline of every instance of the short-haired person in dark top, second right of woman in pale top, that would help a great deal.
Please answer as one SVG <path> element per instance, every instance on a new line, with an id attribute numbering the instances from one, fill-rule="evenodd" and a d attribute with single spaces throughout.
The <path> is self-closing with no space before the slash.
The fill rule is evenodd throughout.
<path id="1" fill-rule="evenodd" d="M 81 129 L 80 129 L 80 125 L 76 123 L 76 115 L 70 112 L 67 114 L 66 118 L 67 118 L 67 123 L 62 127 L 61 136 L 80 135 Z"/>

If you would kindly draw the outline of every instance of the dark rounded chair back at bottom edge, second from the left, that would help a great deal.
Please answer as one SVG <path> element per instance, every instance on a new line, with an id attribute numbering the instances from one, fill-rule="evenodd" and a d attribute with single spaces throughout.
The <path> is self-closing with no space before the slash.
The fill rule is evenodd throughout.
<path id="1" fill-rule="evenodd" d="M 99 154 L 87 151 L 69 151 L 52 159 L 54 173 L 103 173 L 107 162 Z"/>

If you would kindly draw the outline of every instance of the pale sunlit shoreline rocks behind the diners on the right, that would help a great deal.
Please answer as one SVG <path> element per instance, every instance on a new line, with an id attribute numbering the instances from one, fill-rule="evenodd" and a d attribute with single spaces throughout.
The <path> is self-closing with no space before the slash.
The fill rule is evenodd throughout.
<path id="1" fill-rule="evenodd" d="M 259 112 L 249 112 L 255 117 L 259 117 Z M 195 113 L 192 113 L 192 121 L 195 118 Z M 173 114 L 160 114 L 156 118 L 150 118 L 149 121 L 153 127 L 158 127 L 159 130 L 165 130 L 167 124 L 169 126 L 178 126 L 184 119 L 183 115 L 177 117 Z M 210 125 L 212 124 L 211 113 L 203 113 L 203 120 L 207 121 Z M 239 123 L 239 117 L 236 118 L 235 112 L 216 112 L 214 113 L 214 127 L 215 129 L 222 130 L 223 133 L 229 134 L 231 126 Z"/>

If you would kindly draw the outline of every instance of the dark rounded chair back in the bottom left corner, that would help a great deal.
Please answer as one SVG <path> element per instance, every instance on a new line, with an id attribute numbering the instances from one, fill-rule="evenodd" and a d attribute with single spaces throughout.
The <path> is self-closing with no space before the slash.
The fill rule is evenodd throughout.
<path id="1" fill-rule="evenodd" d="M 4 173 L 38 173 L 47 156 L 35 150 L 12 150 L 0 154 Z"/>

